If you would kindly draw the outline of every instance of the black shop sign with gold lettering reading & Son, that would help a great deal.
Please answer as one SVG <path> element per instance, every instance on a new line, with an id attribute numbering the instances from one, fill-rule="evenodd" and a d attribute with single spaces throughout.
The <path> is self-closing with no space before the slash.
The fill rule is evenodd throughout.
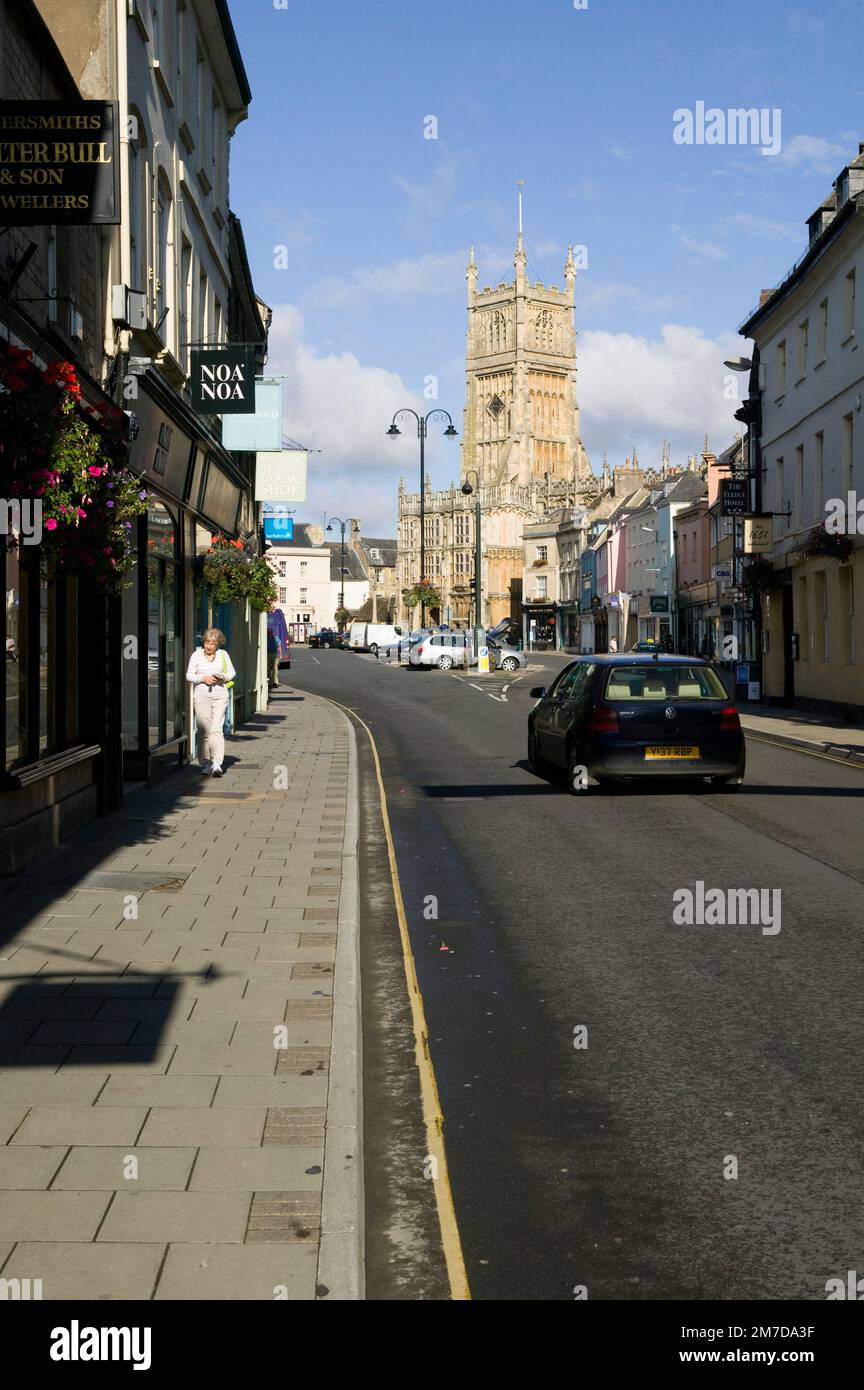
<path id="1" fill-rule="evenodd" d="M 117 101 L 0 101 L 0 224 L 118 225 Z"/>

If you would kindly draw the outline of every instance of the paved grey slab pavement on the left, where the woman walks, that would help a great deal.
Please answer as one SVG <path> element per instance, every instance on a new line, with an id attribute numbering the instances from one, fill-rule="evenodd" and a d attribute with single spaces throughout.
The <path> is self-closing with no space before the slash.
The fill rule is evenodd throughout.
<path id="1" fill-rule="evenodd" d="M 0 884 L 0 1277 L 364 1293 L 357 751 L 282 689 Z"/>

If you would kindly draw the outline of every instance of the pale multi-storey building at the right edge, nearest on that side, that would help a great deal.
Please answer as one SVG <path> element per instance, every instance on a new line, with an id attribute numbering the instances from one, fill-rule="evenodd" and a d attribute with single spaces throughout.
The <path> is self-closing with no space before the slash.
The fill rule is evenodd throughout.
<path id="1" fill-rule="evenodd" d="M 760 350 L 764 696 L 864 712 L 864 535 L 821 530 L 832 499 L 864 498 L 864 145 L 808 218 L 808 246 L 740 328 Z M 861 523 L 864 525 L 864 523 Z M 842 541 L 847 555 L 832 555 Z"/>

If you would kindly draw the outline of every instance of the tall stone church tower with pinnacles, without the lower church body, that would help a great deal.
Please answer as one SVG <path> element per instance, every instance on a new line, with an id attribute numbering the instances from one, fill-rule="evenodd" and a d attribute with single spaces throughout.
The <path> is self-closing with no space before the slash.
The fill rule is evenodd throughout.
<path id="1" fill-rule="evenodd" d="M 478 291 L 471 247 L 463 478 L 476 468 L 485 486 L 575 493 L 592 475 L 576 402 L 576 264 L 571 246 L 564 289 L 528 282 L 521 193 L 514 268 L 510 284 Z"/>

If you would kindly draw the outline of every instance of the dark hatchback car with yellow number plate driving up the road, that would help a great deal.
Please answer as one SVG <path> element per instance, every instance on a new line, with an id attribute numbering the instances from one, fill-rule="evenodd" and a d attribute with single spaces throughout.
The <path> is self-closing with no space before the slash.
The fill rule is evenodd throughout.
<path id="1" fill-rule="evenodd" d="M 710 777 L 738 791 L 745 778 L 738 710 L 697 656 L 582 656 L 531 695 L 529 766 L 565 767 L 574 792 L 581 767 L 593 783 Z"/>

